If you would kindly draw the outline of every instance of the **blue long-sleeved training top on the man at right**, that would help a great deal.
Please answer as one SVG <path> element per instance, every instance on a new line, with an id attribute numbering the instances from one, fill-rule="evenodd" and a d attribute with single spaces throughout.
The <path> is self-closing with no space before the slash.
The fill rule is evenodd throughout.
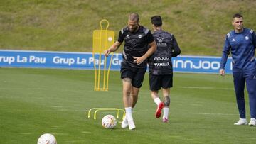
<path id="1" fill-rule="evenodd" d="M 226 35 L 220 69 L 224 69 L 228 55 L 232 54 L 233 71 L 250 70 L 255 66 L 256 35 L 251 29 L 244 28 L 241 33 L 230 31 Z"/>

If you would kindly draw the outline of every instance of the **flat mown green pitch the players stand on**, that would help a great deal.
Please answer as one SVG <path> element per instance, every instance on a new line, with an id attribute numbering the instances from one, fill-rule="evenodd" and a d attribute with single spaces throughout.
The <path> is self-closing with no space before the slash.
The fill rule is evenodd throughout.
<path id="1" fill-rule="evenodd" d="M 59 144 L 255 143 L 256 128 L 233 126 L 239 115 L 231 75 L 174 73 L 169 123 L 162 123 L 154 118 L 146 74 L 134 131 L 120 123 L 102 128 L 101 118 L 113 111 L 87 118 L 92 107 L 123 109 L 119 72 L 110 72 L 108 92 L 93 86 L 92 70 L 0 68 L 0 144 L 34 144 L 43 133 L 53 133 Z"/>

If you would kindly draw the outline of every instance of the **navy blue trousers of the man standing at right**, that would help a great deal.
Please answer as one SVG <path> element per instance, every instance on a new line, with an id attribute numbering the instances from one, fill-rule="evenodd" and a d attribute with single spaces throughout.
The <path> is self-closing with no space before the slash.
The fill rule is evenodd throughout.
<path id="1" fill-rule="evenodd" d="M 240 118 L 245 118 L 245 84 L 249 95 L 250 116 L 256 118 L 256 68 L 252 70 L 233 70 L 233 80 Z"/>

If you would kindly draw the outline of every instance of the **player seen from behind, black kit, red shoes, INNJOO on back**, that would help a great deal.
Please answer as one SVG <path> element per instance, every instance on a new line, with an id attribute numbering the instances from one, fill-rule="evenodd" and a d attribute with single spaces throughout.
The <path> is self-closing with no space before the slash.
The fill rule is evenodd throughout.
<path id="1" fill-rule="evenodd" d="M 170 88 L 173 86 L 173 68 L 171 57 L 181 53 L 178 43 L 173 34 L 161 29 L 161 16 L 153 16 L 151 23 L 154 28 L 154 39 L 157 50 L 149 58 L 149 85 L 151 97 L 157 105 L 156 118 L 160 118 L 161 109 L 164 108 L 163 122 L 168 122 L 170 105 Z M 163 88 L 164 102 L 159 99 L 159 90 Z"/>

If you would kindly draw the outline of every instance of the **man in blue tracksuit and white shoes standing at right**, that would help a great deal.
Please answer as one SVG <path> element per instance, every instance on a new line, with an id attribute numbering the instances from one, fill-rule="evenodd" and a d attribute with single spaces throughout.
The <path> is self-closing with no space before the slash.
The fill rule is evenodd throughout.
<path id="1" fill-rule="evenodd" d="M 256 35 L 255 31 L 243 27 L 242 15 L 233 16 L 234 30 L 225 38 L 223 55 L 220 62 L 220 75 L 225 74 L 228 55 L 232 54 L 233 82 L 240 119 L 235 125 L 247 124 L 245 117 L 245 83 L 250 101 L 250 126 L 256 126 Z"/>

